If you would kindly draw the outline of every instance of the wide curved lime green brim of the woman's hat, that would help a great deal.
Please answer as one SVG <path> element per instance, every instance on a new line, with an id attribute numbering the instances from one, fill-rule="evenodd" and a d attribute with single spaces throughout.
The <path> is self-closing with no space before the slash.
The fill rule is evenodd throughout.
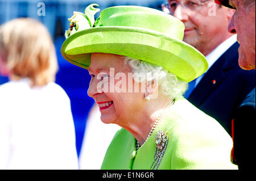
<path id="1" fill-rule="evenodd" d="M 190 82 L 208 69 L 203 54 L 179 39 L 133 27 L 94 27 L 76 32 L 64 41 L 65 60 L 87 69 L 91 53 L 112 53 L 162 66 Z"/>

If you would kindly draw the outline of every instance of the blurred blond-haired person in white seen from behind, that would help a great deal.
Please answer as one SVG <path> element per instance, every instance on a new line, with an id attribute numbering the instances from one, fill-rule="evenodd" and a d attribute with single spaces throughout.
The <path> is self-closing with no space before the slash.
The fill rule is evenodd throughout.
<path id="1" fill-rule="evenodd" d="M 70 100 L 54 83 L 51 35 L 29 18 L 0 27 L 0 169 L 78 169 Z"/>

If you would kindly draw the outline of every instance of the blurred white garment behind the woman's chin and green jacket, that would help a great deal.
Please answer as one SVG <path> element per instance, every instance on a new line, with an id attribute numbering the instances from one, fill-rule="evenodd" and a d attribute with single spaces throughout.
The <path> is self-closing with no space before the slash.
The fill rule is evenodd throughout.
<path id="1" fill-rule="evenodd" d="M 84 140 L 79 157 L 81 170 L 100 170 L 110 142 L 121 129 L 117 124 L 105 124 L 101 121 L 101 112 L 95 103 L 86 121 Z"/>

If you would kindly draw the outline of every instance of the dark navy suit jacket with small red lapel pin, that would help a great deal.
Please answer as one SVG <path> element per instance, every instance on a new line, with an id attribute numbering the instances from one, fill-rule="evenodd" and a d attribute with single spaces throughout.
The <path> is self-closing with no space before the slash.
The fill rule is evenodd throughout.
<path id="1" fill-rule="evenodd" d="M 255 87 L 255 70 L 238 65 L 235 43 L 205 73 L 188 97 L 189 102 L 216 119 L 231 135 L 231 123 L 246 95 Z"/>

